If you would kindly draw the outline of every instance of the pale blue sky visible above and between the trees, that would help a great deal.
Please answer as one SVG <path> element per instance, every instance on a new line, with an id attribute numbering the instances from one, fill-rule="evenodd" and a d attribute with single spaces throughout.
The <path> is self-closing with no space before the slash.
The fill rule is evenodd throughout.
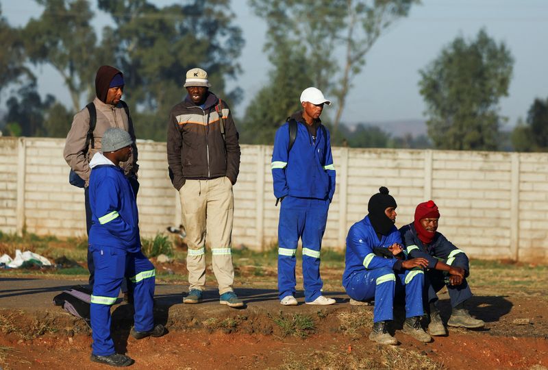
<path id="1" fill-rule="evenodd" d="M 177 1 L 153 2 L 165 5 Z M 0 3 L 3 16 L 12 25 L 23 25 L 41 12 L 33 0 Z M 240 86 L 244 90 L 244 100 L 238 106 L 242 114 L 267 82 L 271 66 L 262 52 L 266 26 L 250 12 L 246 0 L 232 3 L 246 45 L 239 60 L 242 74 L 229 82 L 229 88 Z M 100 21 L 96 24 L 101 26 Z M 417 86 L 419 69 L 434 60 L 456 36 L 473 38 L 482 27 L 497 42 L 506 42 L 515 59 L 509 97 L 501 100 L 501 112 L 509 117 L 508 126 L 519 117 L 525 118 L 536 97 L 548 97 L 548 0 L 423 0 L 423 5 L 412 8 L 410 15 L 393 25 L 366 56 L 366 66 L 354 81 L 343 121 L 423 119 L 425 105 Z M 69 101 L 53 69 L 40 67 L 36 74 L 40 93 Z"/>

